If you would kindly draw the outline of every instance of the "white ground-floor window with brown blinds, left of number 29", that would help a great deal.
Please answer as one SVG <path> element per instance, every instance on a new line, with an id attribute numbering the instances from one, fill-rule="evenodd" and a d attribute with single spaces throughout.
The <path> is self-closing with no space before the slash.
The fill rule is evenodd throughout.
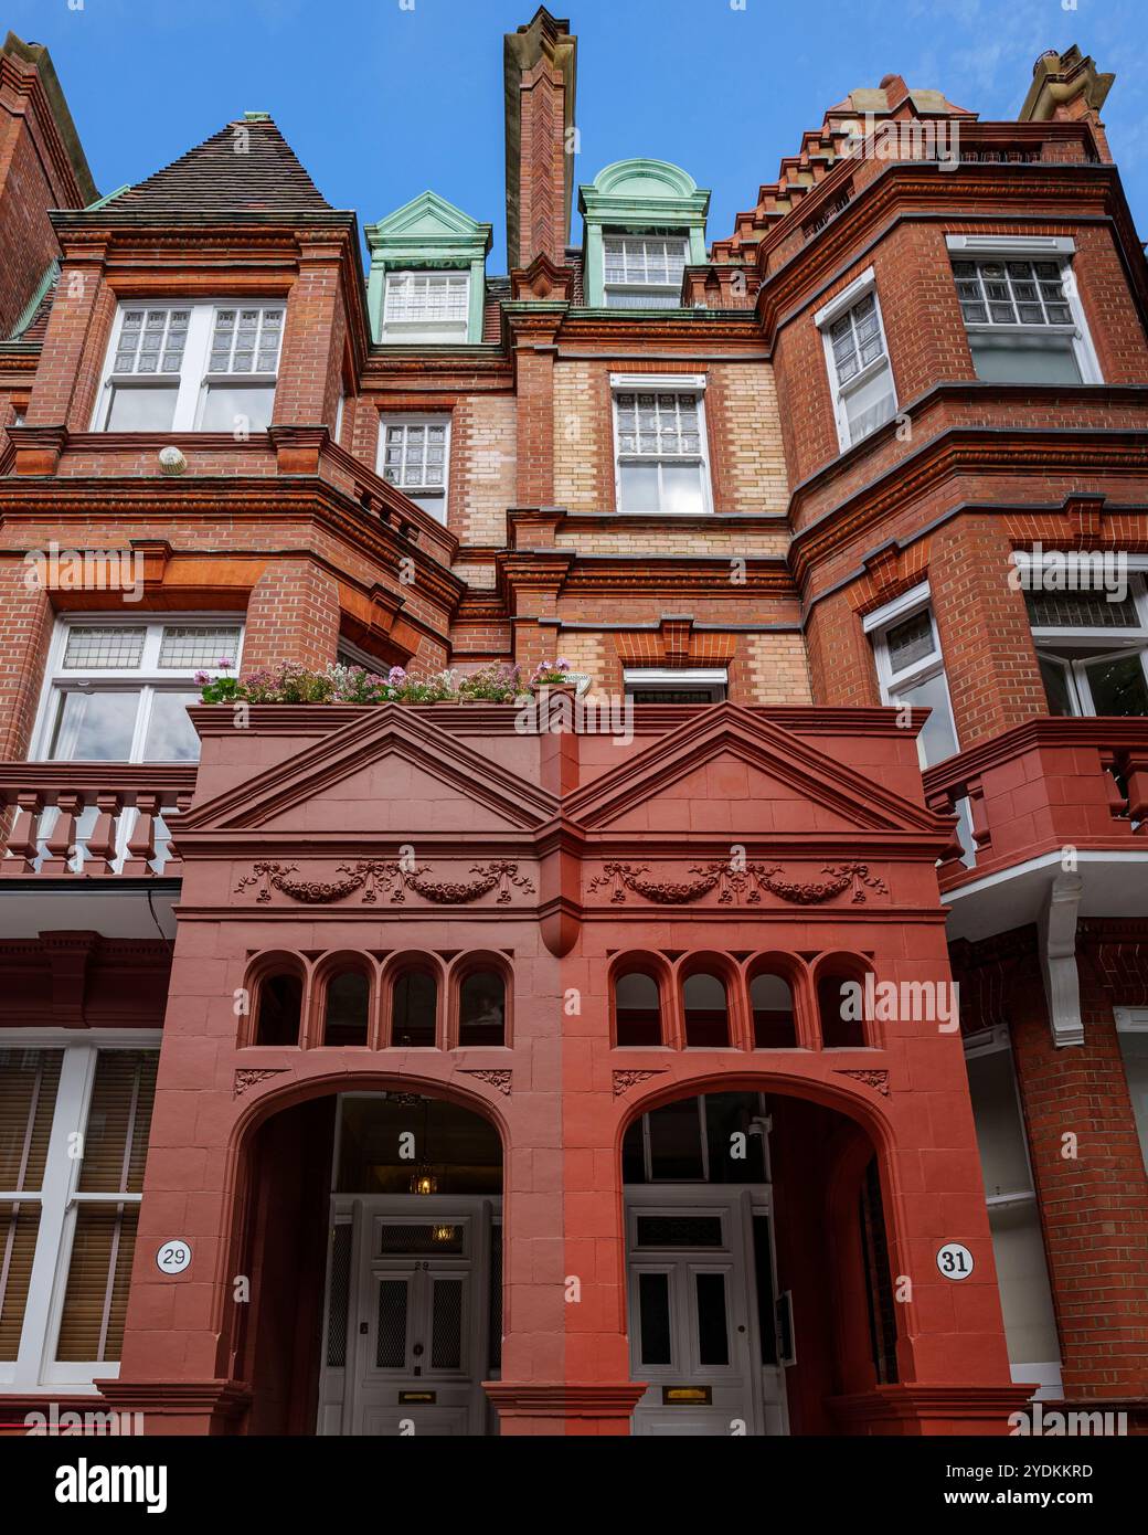
<path id="1" fill-rule="evenodd" d="M 0 1038 L 0 1383 L 118 1374 L 158 1036 Z"/>

